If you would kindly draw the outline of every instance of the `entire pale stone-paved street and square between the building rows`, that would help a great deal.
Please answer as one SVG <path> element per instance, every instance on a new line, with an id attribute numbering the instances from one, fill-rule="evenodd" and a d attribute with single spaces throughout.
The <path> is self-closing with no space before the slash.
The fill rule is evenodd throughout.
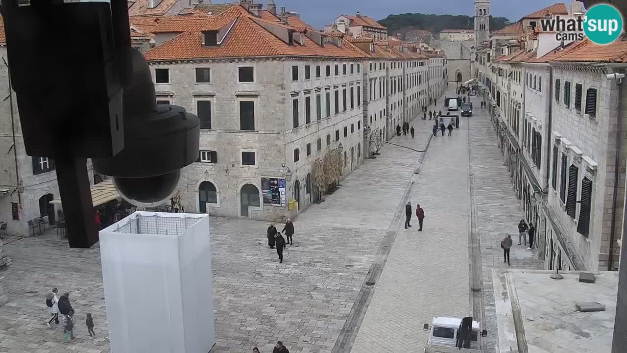
<path id="1" fill-rule="evenodd" d="M 515 234 L 522 211 L 490 119 L 482 114 L 471 119 L 470 130 L 464 118 L 453 136 L 435 137 L 430 144 L 431 121 L 414 120 L 415 139 L 391 140 L 408 148 L 387 144 L 381 156 L 365 161 L 337 192 L 295 220 L 295 246 L 287 248 L 283 264 L 266 245 L 266 222 L 213 217 L 214 352 L 250 352 L 255 345 L 271 352 L 277 340 L 296 353 L 332 352 L 339 340 L 356 353 L 414 352 L 426 342 L 422 325 L 431 317 L 467 315 L 469 146 L 483 285 L 491 295 L 488 270 L 502 266 L 498 241 L 505 232 Z M 428 144 L 426 154 L 418 152 Z M 405 198 L 414 209 L 423 206 L 423 232 L 415 217 L 413 227 L 403 228 Z M 389 248 L 386 241 L 393 241 Z M 11 238 L 4 251 L 13 266 L 0 272 L 10 300 L 0 308 L 0 352 L 109 351 L 97 246 L 68 249 L 52 233 Z M 512 259 L 512 267 L 536 266 L 525 249 L 515 248 Z M 377 263 L 384 264 L 381 276 L 373 290 L 364 290 Z M 45 293 L 53 286 L 70 291 L 76 309 L 78 338 L 71 344 L 63 344 L 59 327 L 45 326 Z M 369 305 L 358 298 L 367 298 Z M 493 300 L 487 298 L 486 307 L 491 329 Z M 87 336 L 87 312 L 95 318 L 95 340 Z M 356 325 L 356 337 L 345 328 L 347 322 Z"/>

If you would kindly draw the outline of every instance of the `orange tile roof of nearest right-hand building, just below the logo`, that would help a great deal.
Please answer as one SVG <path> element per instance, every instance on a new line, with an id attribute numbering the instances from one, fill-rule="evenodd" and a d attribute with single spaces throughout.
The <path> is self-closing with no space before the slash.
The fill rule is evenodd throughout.
<path id="1" fill-rule="evenodd" d="M 627 63 L 627 40 L 617 40 L 609 45 L 598 45 L 589 40 L 578 45 L 553 61 Z"/>

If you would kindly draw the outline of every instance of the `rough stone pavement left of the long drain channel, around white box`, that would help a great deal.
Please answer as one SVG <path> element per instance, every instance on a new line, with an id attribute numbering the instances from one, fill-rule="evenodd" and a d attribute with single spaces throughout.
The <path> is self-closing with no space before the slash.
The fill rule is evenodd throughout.
<path id="1" fill-rule="evenodd" d="M 416 149 L 431 134 L 423 125 L 416 124 L 411 141 Z M 258 345 L 271 352 L 282 340 L 291 352 L 330 352 L 420 155 L 389 144 L 365 161 L 326 202 L 295 219 L 295 246 L 287 247 L 283 264 L 266 245 L 266 222 L 212 217 L 213 351 L 250 352 Z M 11 238 L 4 251 L 13 265 L 0 272 L 10 300 L 0 308 L 0 352 L 109 352 L 98 246 L 68 249 L 53 231 Z M 70 291 L 76 310 L 77 338 L 68 345 L 60 327 L 45 326 L 45 293 L 53 286 Z M 95 340 L 87 336 L 87 312 Z"/>

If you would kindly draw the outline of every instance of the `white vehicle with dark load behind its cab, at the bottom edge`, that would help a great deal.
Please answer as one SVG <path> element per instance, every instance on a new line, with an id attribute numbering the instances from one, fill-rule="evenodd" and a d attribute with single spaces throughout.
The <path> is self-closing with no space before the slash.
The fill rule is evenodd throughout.
<path id="1" fill-rule="evenodd" d="M 424 353 L 460 353 L 460 348 L 455 347 L 457 337 L 460 334 L 461 318 L 434 317 L 431 325 L 424 324 L 424 330 L 429 331 L 429 339 L 424 349 Z M 470 329 L 470 348 L 461 349 L 463 352 L 483 352 L 483 337 L 487 331 L 481 330 L 481 323 L 473 320 Z"/>

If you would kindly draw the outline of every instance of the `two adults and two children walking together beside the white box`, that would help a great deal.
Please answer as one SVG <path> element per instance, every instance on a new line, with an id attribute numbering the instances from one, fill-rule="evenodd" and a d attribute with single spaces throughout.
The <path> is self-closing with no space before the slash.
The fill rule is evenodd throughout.
<path id="1" fill-rule="evenodd" d="M 55 323 L 58 325 L 61 323 L 63 327 L 63 337 L 65 339 L 65 343 L 69 343 L 70 340 L 75 339 L 74 336 L 74 308 L 70 303 L 70 293 L 65 292 L 60 297 L 57 296 L 59 290 L 57 288 L 53 288 L 50 293 L 46 295 L 46 307 L 48 307 L 48 313 L 51 315 L 50 320 L 46 322 L 48 325 L 48 329 L 52 329 L 51 323 Z M 59 314 L 63 315 L 61 320 L 59 320 Z M 87 318 L 85 319 L 85 325 L 87 325 L 87 332 L 90 337 L 96 337 L 95 332 L 93 332 L 93 318 L 91 313 L 87 313 Z"/>

